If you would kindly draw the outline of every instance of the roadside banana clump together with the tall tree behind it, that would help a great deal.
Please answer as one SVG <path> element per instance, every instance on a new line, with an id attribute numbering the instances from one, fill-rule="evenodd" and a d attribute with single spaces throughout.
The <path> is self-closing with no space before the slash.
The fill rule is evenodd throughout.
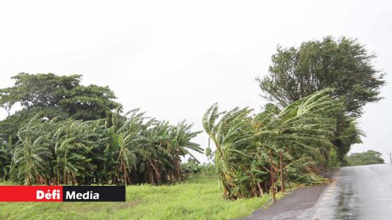
<path id="1" fill-rule="evenodd" d="M 225 198 L 284 192 L 290 181 L 311 184 L 321 170 L 341 166 L 361 142 L 363 106 L 381 98 L 384 73 L 372 66 L 374 57 L 350 38 L 278 46 L 267 75 L 256 79 L 272 103 L 261 112 L 211 105 L 203 128 Z"/>

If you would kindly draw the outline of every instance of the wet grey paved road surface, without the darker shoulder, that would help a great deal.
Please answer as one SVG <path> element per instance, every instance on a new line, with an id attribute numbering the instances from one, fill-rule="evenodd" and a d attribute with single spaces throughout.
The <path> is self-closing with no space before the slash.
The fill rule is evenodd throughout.
<path id="1" fill-rule="evenodd" d="M 392 166 L 340 168 L 312 209 L 311 219 L 392 219 Z"/>

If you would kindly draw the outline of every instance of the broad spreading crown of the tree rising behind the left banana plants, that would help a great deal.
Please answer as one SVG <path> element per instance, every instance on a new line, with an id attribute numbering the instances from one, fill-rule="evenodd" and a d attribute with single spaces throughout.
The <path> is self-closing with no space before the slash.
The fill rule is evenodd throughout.
<path id="1" fill-rule="evenodd" d="M 19 73 L 13 87 L 0 89 L 0 105 L 6 110 L 20 103 L 22 108 L 57 108 L 74 119 L 104 118 L 120 106 L 109 87 L 80 85 L 81 75 L 57 76 Z M 49 117 L 48 115 L 47 117 Z"/>

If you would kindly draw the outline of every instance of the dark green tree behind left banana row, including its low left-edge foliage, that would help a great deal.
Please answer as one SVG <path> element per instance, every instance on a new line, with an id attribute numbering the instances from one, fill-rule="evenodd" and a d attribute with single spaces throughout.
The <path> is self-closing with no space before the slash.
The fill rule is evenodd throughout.
<path id="1" fill-rule="evenodd" d="M 0 105 L 8 112 L 15 104 L 22 109 L 0 122 L 1 138 L 11 136 L 18 141 L 17 132 L 38 112 L 48 119 L 102 119 L 121 105 L 109 87 L 80 85 L 81 75 L 19 73 L 12 77 L 13 87 L 0 89 Z M 18 106 L 18 105 L 17 105 Z"/>

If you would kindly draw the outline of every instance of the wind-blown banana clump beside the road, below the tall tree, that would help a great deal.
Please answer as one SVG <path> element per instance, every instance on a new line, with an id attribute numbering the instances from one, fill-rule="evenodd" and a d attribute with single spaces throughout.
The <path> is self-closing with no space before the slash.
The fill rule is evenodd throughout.
<path id="1" fill-rule="evenodd" d="M 331 139 L 342 102 L 331 89 L 279 109 L 267 104 L 252 115 L 249 108 L 220 112 L 212 105 L 203 117 L 204 131 L 216 146 L 215 163 L 228 199 L 285 191 L 292 182 L 315 182 L 336 155 Z"/>

